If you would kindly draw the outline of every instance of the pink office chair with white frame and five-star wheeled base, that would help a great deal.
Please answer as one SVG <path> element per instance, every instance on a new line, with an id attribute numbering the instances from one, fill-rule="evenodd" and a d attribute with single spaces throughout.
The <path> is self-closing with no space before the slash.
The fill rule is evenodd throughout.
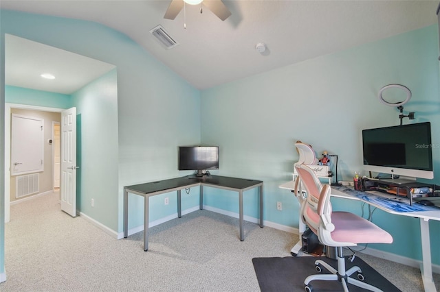
<path id="1" fill-rule="evenodd" d="M 371 284 L 362 282 L 364 276 L 359 267 L 351 267 L 345 270 L 345 259 L 342 254 L 342 247 L 355 246 L 358 243 L 392 243 L 393 237 L 375 226 L 374 223 L 354 215 L 351 212 L 332 212 L 330 203 L 331 188 L 328 184 L 322 186 L 314 171 L 307 165 L 296 165 L 300 181 L 307 193 L 307 199 L 303 203 L 303 221 L 309 226 L 323 245 L 337 247 L 338 269 L 334 269 L 322 260 L 315 261 L 316 271 L 325 267 L 331 274 L 315 274 L 308 276 L 305 281 L 305 291 L 311 292 L 309 284 L 313 280 L 339 281 L 348 292 L 347 283 L 353 284 L 370 291 L 381 291 Z M 358 279 L 351 278 L 357 273 Z"/>

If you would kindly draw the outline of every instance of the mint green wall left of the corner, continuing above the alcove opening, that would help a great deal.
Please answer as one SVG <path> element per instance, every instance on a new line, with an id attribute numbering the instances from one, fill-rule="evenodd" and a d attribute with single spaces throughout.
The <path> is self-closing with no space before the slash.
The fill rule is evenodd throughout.
<path id="1" fill-rule="evenodd" d="M 115 210 L 115 198 L 111 197 L 111 204 L 95 205 L 91 210 L 89 199 L 94 192 L 88 194 L 80 205 L 93 219 L 122 232 L 123 186 L 188 174 L 177 171 L 177 147 L 200 143 L 199 90 L 131 38 L 104 25 L 8 10 L 0 10 L 0 13 L 2 37 L 12 34 L 28 38 L 117 66 L 118 125 L 115 133 L 118 133 L 118 145 L 109 145 L 109 148 L 118 149 L 118 208 Z M 85 101 L 81 100 L 80 104 L 82 110 L 87 110 Z M 84 131 L 89 127 L 87 119 L 83 115 L 79 118 L 81 131 Z M 83 163 L 88 155 L 85 151 L 87 149 L 81 149 Z M 108 156 L 114 158 L 113 150 Z M 107 184 L 107 180 L 95 183 L 99 186 Z M 81 191 L 88 189 L 81 188 Z M 197 206 L 197 195 L 198 190 L 194 189 L 190 195 L 184 196 L 182 208 Z M 164 206 L 164 196 L 170 197 L 168 206 Z M 98 199 L 104 197 L 99 195 Z M 150 212 L 151 221 L 174 214 L 177 210 L 174 193 L 154 197 L 150 204 L 155 206 Z M 143 199 L 131 195 L 130 228 L 142 225 L 142 206 Z"/>

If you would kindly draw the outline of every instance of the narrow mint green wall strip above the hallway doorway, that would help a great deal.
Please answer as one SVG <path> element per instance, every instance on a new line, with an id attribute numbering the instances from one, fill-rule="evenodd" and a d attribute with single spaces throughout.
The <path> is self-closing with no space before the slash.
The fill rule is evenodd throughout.
<path id="1" fill-rule="evenodd" d="M 70 95 L 8 85 L 5 86 L 5 102 L 47 108 L 72 107 Z"/>

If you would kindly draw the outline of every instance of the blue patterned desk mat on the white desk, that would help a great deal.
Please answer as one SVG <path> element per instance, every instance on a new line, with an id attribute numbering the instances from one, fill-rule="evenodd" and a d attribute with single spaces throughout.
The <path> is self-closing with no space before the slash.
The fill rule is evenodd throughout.
<path id="1" fill-rule="evenodd" d="M 415 202 L 412 202 L 412 206 L 410 206 L 409 199 L 401 199 L 399 197 L 395 197 L 395 198 L 380 197 L 378 195 L 374 195 L 371 193 L 356 191 L 353 190 L 353 188 L 348 188 L 347 186 L 331 186 L 331 188 L 335 188 L 336 190 L 342 193 L 346 193 L 347 195 L 358 197 L 359 199 L 362 199 L 362 201 L 364 202 L 371 202 L 373 204 L 377 204 L 379 206 L 393 210 L 395 212 L 420 212 L 420 211 L 440 210 L 440 208 L 437 206 L 423 206 Z"/>

